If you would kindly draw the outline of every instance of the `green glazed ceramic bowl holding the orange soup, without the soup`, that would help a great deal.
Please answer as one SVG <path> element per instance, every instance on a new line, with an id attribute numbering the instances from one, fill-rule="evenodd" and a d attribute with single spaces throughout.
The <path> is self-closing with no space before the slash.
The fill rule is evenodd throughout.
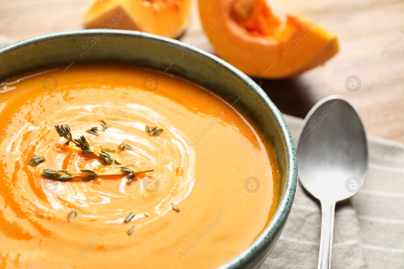
<path id="1" fill-rule="evenodd" d="M 237 103 L 272 141 L 280 171 L 278 208 L 262 234 L 220 269 L 257 269 L 274 248 L 290 212 L 297 185 L 292 136 L 282 114 L 247 75 L 189 44 L 137 31 L 99 29 L 52 33 L 0 49 L 0 80 L 40 67 L 88 61 L 120 61 L 178 75 Z M 267 214 L 267 212 L 263 212 Z"/>

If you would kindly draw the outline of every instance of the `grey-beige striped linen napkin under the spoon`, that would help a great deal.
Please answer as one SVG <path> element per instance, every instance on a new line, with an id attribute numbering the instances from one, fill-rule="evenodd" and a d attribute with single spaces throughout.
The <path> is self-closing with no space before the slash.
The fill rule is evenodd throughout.
<path id="1" fill-rule="evenodd" d="M 303 119 L 284 117 L 296 139 Z M 394 141 L 368 136 L 368 143 L 364 186 L 336 205 L 332 269 L 404 267 L 404 131 Z M 317 268 L 321 215 L 298 184 L 285 229 L 261 269 Z"/>

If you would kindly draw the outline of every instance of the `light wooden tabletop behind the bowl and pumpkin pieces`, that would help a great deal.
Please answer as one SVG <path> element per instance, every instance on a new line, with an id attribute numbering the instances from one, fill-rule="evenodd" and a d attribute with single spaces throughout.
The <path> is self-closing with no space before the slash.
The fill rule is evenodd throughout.
<path id="1" fill-rule="evenodd" d="M 267 0 L 280 17 L 303 13 L 314 18 L 325 10 L 320 25 L 337 34 L 340 52 L 326 64 L 285 80 L 263 80 L 262 88 L 283 113 L 304 117 L 311 106 L 330 94 L 349 98 L 359 109 L 367 132 L 388 139 L 404 131 L 404 40 L 384 57 L 381 50 L 400 35 L 404 38 L 404 2 L 394 0 Z M 15 41 L 57 31 L 82 29 L 80 21 L 90 0 L 0 0 L 0 27 L 23 15 L 4 34 Z M 181 41 L 202 29 L 197 10 Z M 402 32 L 400 32 L 402 31 Z M 1 38 L 0 38 L 1 39 Z M 397 42 L 396 42 L 397 43 Z M 196 45 L 213 52 L 205 36 Z M 356 75 L 358 92 L 349 92 L 345 80 Z M 286 119 L 286 121 L 288 121 Z"/>

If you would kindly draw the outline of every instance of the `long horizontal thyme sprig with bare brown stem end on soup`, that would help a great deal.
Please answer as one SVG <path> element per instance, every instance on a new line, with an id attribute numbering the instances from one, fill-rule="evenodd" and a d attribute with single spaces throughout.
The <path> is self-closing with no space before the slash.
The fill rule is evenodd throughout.
<path id="1" fill-rule="evenodd" d="M 134 171 L 132 169 L 129 169 L 127 167 L 124 167 L 125 170 L 121 167 L 122 169 L 122 173 L 110 173 L 110 174 L 98 174 L 93 170 L 90 169 L 83 169 L 80 170 L 82 172 L 85 172 L 87 174 L 85 175 L 79 175 L 79 174 L 74 174 L 72 172 L 69 171 L 65 171 L 65 170 L 54 170 L 54 169 L 44 169 L 44 171 L 42 172 L 42 175 L 44 177 L 50 178 L 52 177 L 53 179 L 59 180 L 59 181 L 69 181 L 72 180 L 74 178 L 86 178 L 86 179 L 95 179 L 96 177 L 110 177 L 110 176 L 114 176 L 114 175 L 128 175 L 133 178 L 135 178 L 135 176 L 137 174 L 141 174 L 141 173 L 147 173 L 147 172 L 152 172 L 154 171 L 153 169 L 150 170 L 139 170 L 139 171 Z M 129 171 L 130 170 L 130 171 Z M 132 180 L 133 181 L 133 180 Z"/>

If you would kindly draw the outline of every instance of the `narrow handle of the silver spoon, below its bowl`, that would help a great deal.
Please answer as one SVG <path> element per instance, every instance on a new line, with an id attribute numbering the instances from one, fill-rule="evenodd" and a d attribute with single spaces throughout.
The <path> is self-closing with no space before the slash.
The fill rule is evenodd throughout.
<path id="1" fill-rule="evenodd" d="M 331 269 L 332 236 L 334 234 L 335 202 L 321 201 L 322 221 L 320 253 L 317 269 Z"/>

